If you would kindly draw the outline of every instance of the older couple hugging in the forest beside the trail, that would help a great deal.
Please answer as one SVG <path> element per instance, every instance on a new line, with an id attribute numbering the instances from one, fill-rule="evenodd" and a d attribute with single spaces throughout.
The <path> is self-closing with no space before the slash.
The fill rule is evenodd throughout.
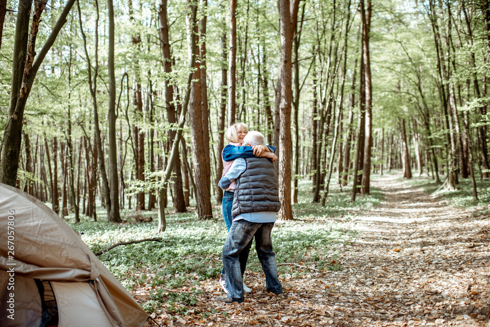
<path id="1" fill-rule="evenodd" d="M 276 212 L 281 207 L 273 166 L 277 159 L 275 148 L 265 145 L 262 133 L 248 132 L 244 123 L 230 126 L 224 136 L 229 145 L 221 153 L 223 176 L 219 186 L 225 190 L 222 209 L 228 236 L 223 246 L 220 283 L 227 295 L 216 300 L 240 303 L 245 300 L 244 291 L 252 291 L 243 282 L 243 274 L 254 237 L 255 250 L 266 275 L 266 289 L 281 294 L 270 238 Z"/>

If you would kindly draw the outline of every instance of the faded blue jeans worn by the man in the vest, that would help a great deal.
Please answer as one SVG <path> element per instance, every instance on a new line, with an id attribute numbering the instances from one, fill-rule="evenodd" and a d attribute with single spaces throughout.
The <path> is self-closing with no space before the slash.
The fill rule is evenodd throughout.
<path id="1" fill-rule="evenodd" d="M 240 257 L 245 248 L 255 237 L 255 250 L 262 270 L 266 275 L 266 289 L 274 294 L 282 293 L 282 285 L 277 278 L 277 263 L 272 252 L 270 232 L 274 223 L 251 223 L 237 220 L 231 225 L 228 237 L 223 246 L 223 264 L 226 271 L 225 287 L 228 297 L 236 302 L 244 302 L 244 287 Z"/>

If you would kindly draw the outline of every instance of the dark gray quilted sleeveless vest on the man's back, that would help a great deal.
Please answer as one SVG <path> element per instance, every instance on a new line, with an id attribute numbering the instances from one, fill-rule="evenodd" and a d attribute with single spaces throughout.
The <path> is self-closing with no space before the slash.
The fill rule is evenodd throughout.
<path id="1" fill-rule="evenodd" d="M 281 208 L 274 164 L 268 158 L 246 158 L 245 172 L 236 180 L 232 217 L 242 213 L 272 211 Z"/>

